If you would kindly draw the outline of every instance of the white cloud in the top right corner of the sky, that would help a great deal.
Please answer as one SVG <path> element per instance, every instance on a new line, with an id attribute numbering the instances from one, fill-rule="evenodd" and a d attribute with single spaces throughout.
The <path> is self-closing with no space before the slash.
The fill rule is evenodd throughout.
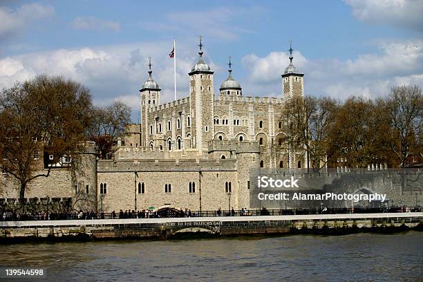
<path id="1" fill-rule="evenodd" d="M 423 32 L 421 0 L 344 0 L 353 15 L 367 23 L 388 23 Z"/>

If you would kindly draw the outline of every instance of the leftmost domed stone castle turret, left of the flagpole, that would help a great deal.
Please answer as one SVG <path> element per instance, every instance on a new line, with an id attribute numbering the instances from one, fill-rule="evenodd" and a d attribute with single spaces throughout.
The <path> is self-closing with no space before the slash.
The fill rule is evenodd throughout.
<path id="1" fill-rule="evenodd" d="M 151 57 L 149 57 L 149 77 L 147 78 L 146 82 L 142 84 L 140 89 L 141 94 L 141 131 L 142 131 L 142 146 L 147 146 L 149 141 L 151 140 L 151 135 L 156 132 L 151 132 L 149 129 L 149 119 L 148 119 L 148 112 L 149 108 L 153 106 L 158 106 L 160 104 L 160 87 L 159 85 L 153 80 L 151 74 Z"/>

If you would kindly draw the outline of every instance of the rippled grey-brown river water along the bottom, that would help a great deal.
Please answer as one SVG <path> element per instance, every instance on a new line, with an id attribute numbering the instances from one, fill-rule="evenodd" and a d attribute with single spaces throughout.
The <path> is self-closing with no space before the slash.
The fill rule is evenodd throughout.
<path id="1" fill-rule="evenodd" d="M 0 265 L 44 281 L 422 281 L 423 233 L 26 243 L 0 245 Z"/>

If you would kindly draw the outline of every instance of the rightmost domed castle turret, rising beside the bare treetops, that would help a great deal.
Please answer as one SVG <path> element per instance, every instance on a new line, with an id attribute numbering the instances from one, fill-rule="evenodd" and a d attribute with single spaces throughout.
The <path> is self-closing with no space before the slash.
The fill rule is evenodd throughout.
<path id="1" fill-rule="evenodd" d="M 304 96 L 304 74 L 301 73 L 294 64 L 292 64 L 292 41 L 290 41 L 290 64 L 285 68 L 282 75 L 283 97 L 292 97 L 294 95 Z"/>

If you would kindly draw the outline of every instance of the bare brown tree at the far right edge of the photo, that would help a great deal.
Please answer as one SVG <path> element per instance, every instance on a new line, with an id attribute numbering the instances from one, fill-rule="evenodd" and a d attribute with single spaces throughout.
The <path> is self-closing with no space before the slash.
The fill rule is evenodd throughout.
<path id="1" fill-rule="evenodd" d="M 390 147 L 400 159 L 400 166 L 405 167 L 411 151 L 423 151 L 422 88 L 417 85 L 395 86 L 391 88 L 385 106 L 391 124 Z"/>

